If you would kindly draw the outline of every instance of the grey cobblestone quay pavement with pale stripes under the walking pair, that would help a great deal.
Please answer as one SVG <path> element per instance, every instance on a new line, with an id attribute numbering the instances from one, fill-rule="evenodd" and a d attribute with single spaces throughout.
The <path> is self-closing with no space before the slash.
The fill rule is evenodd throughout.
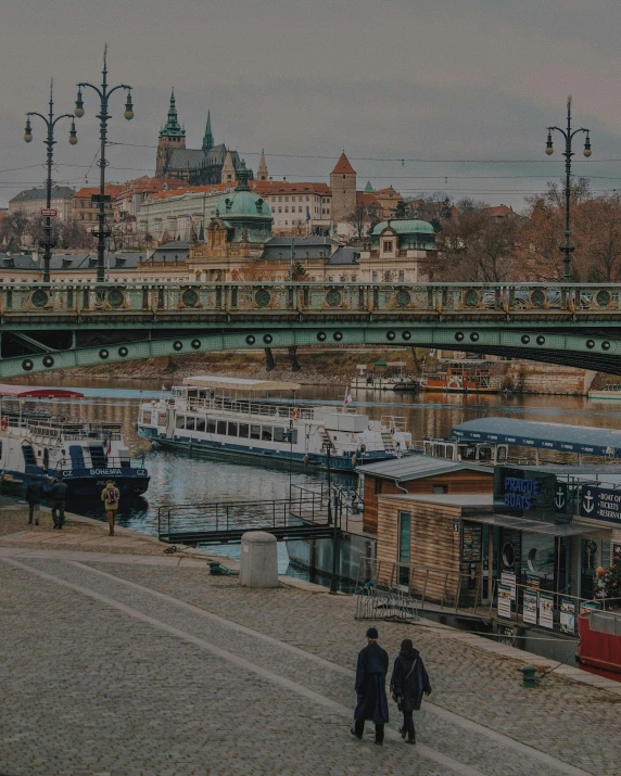
<path id="1" fill-rule="evenodd" d="M 119 559 L 121 560 L 121 559 Z M 431 623 L 411 636 L 433 694 L 419 743 L 348 735 L 365 623 L 348 597 L 240 588 L 206 569 L 0 556 L 0 773 L 306 776 L 619 773 L 620 699 Z"/>

